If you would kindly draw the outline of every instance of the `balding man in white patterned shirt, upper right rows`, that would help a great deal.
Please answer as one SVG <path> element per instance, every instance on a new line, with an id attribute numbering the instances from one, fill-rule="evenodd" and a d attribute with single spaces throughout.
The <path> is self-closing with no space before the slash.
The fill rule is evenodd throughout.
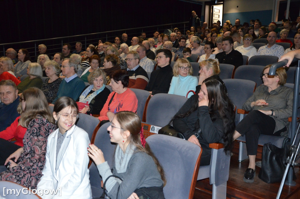
<path id="1" fill-rule="evenodd" d="M 276 32 L 269 32 L 268 44 L 262 47 L 259 47 L 257 55 L 272 55 L 280 58 L 283 55 L 284 48 L 276 43 Z"/>

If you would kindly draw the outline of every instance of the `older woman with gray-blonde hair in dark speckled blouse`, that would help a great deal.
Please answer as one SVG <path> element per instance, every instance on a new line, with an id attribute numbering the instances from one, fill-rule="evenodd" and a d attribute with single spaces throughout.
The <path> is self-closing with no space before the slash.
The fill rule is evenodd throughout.
<path id="1" fill-rule="evenodd" d="M 72 54 L 73 55 L 73 54 Z M 76 55 L 76 54 L 75 54 Z M 47 102 L 51 103 L 56 98 L 62 78 L 59 78 L 60 66 L 53 60 L 46 61 L 45 72 L 48 78 L 42 84 L 41 90 L 44 92 Z"/>

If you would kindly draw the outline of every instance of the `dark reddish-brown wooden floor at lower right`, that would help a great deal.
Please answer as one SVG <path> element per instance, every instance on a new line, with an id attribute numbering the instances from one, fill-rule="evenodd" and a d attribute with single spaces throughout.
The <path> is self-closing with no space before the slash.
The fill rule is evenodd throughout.
<path id="1" fill-rule="evenodd" d="M 259 147 L 257 158 L 261 158 L 262 147 Z M 260 159 L 257 159 L 259 161 Z M 230 159 L 229 180 L 227 181 L 226 199 L 266 199 L 276 198 L 280 183 L 268 184 L 258 178 L 259 167 L 256 167 L 253 183 L 243 181 L 244 172 L 249 164 L 248 160 L 238 162 L 238 142 L 235 143 L 233 155 Z M 280 199 L 300 199 L 300 174 L 296 173 L 296 186 L 284 185 Z M 194 199 L 211 198 L 212 185 L 209 179 L 199 180 L 196 185 Z"/>

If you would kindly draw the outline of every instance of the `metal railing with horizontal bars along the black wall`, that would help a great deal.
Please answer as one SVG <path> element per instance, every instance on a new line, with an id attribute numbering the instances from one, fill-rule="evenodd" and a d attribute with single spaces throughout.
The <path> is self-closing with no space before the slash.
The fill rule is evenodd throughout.
<path id="1" fill-rule="evenodd" d="M 7 48 L 13 48 L 16 52 L 19 51 L 20 48 L 26 48 L 33 58 L 38 54 L 38 45 L 45 44 L 47 46 L 47 54 L 53 56 L 57 52 L 62 52 L 62 45 L 65 43 L 69 43 L 72 46 L 72 50 L 75 50 L 74 46 L 76 42 L 82 43 L 82 49 L 85 50 L 88 45 L 94 44 L 98 45 L 98 40 L 102 39 L 104 41 L 114 42 L 115 36 L 121 36 L 123 33 L 128 35 L 128 39 L 131 40 L 134 36 L 140 36 L 141 32 L 146 32 L 147 38 L 153 37 L 153 33 L 155 31 L 164 32 L 165 29 L 173 29 L 179 28 L 182 31 L 182 35 L 185 35 L 185 31 L 188 29 L 188 21 L 179 22 L 179 23 L 168 23 L 156 26 L 144 26 L 138 28 L 130 28 L 130 29 L 120 29 L 120 30 L 112 30 L 105 32 L 96 32 L 91 34 L 84 35 L 73 35 L 67 37 L 57 37 L 57 38 L 49 38 L 49 39 L 39 39 L 33 41 L 21 41 L 21 42 L 13 42 L 13 43 L 5 43 L 0 44 L 0 55 L 5 56 L 5 51 Z M 0 56 L 0 57 L 1 57 Z"/>

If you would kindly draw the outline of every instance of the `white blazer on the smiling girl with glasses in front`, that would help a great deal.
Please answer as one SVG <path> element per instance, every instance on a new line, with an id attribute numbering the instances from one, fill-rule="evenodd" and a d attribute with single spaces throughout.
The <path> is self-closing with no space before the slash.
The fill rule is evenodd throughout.
<path id="1" fill-rule="evenodd" d="M 37 189 L 58 189 L 57 194 L 43 194 L 48 198 L 92 198 L 88 170 L 88 133 L 74 125 L 66 133 L 56 162 L 58 129 L 48 136 L 46 163 Z M 55 169 L 56 168 L 56 169 Z"/>

